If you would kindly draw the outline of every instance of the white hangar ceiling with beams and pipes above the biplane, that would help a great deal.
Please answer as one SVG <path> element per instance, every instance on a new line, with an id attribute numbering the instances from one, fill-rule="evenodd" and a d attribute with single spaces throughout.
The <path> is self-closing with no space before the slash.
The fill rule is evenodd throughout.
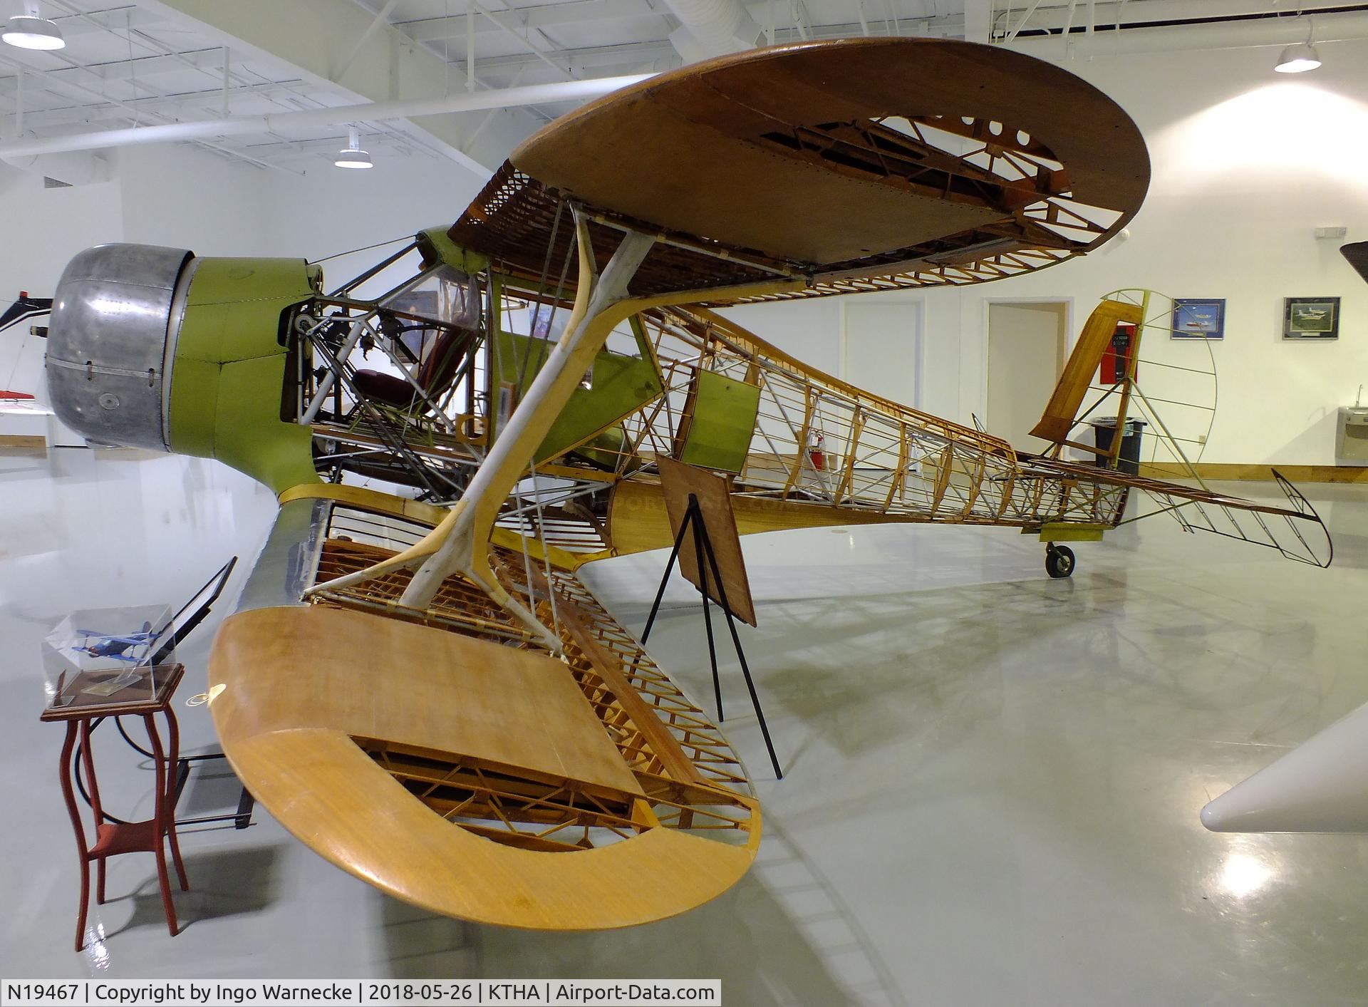
<path id="1" fill-rule="evenodd" d="M 66 49 L 0 45 L 0 135 L 271 115 L 363 101 L 655 73 L 683 59 L 676 0 L 42 0 Z M 966 33 L 966 3 L 970 29 Z M 1328 3 L 1305 3 L 1308 11 Z M 0 0 L 0 16 L 22 14 Z M 1334 10 L 1368 10 L 1334 4 Z M 1295 0 L 759 0 L 761 41 L 843 36 L 993 38 L 1146 25 L 1295 16 Z M 238 21 L 254 11 L 252 22 Z M 473 14 L 469 14 L 473 11 Z M 293 14 L 294 16 L 289 16 Z M 473 18 L 473 21 L 472 21 Z M 263 22 L 272 23 L 263 23 Z M 472 30 L 473 29 L 473 30 Z M 244 38 L 242 36 L 249 36 Z M 468 53 L 473 59 L 468 59 Z M 376 156 L 461 157 L 494 166 L 516 138 L 569 104 L 358 123 Z M 494 126 L 491 129 L 491 126 Z M 346 126 L 291 123 L 193 142 L 263 168 L 326 166 Z"/>

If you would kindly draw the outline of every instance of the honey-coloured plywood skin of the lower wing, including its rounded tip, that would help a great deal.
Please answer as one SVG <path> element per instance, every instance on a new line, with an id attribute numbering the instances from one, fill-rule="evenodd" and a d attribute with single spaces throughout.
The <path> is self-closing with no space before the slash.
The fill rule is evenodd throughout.
<path id="1" fill-rule="evenodd" d="M 755 843 L 659 826 L 569 668 L 544 654 L 275 606 L 224 621 L 209 683 L 223 750 L 256 799 L 331 863 L 434 913 L 527 929 L 631 926 L 720 895 L 755 855 Z M 439 814 L 420 800 L 405 783 L 421 773 L 472 800 L 482 787 L 583 795 L 586 810 L 643 828 L 595 848 L 536 828 L 495 841 L 492 829 L 458 824 L 479 817 L 473 803 Z M 758 840 L 758 809 L 752 826 Z"/>

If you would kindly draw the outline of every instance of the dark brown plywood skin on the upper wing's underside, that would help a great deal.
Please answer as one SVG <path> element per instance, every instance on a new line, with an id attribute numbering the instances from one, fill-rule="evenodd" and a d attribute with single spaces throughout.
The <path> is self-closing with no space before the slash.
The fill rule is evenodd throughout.
<path id="1" fill-rule="evenodd" d="M 915 172 L 860 167 L 839 142 L 824 155 L 792 140 L 817 129 L 839 141 L 830 125 L 902 116 L 1029 131 L 1063 161 L 1074 198 L 1127 218 L 1148 186 L 1140 131 L 1097 89 L 1021 53 L 917 38 L 806 42 L 684 67 L 557 119 L 510 160 L 648 224 L 826 264 L 1011 220 L 1047 187 L 1044 178 L 985 174 L 978 181 L 992 185 L 936 194 Z"/>

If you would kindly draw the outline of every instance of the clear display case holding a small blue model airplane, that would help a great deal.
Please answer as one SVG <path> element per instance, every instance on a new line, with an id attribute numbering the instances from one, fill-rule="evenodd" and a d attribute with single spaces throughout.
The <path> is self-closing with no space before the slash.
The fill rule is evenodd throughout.
<path id="1" fill-rule="evenodd" d="M 172 612 L 166 605 L 86 609 L 42 640 L 48 711 L 137 707 L 159 699 L 175 669 Z"/>

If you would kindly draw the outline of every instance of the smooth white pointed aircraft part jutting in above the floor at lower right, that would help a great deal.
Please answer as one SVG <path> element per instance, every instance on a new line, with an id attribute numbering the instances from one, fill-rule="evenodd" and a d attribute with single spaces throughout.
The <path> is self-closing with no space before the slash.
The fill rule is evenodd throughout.
<path id="1" fill-rule="evenodd" d="M 1368 703 L 1201 810 L 1212 832 L 1368 832 Z"/>

